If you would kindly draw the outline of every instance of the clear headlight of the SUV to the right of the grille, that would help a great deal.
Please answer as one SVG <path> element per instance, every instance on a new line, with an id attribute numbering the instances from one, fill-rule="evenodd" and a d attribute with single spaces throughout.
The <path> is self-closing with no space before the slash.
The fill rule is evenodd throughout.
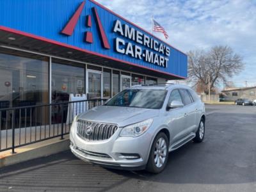
<path id="1" fill-rule="evenodd" d="M 147 131 L 148 127 L 152 124 L 153 119 L 150 118 L 143 122 L 138 122 L 136 124 L 128 125 L 122 129 L 120 136 L 122 137 L 138 137 Z"/>

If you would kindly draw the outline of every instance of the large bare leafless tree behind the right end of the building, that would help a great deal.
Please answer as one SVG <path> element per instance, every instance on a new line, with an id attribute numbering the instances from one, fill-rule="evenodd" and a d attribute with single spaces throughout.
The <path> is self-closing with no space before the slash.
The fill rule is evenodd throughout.
<path id="1" fill-rule="evenodd" d="M 210 79 L 210 90 L 218 84 L 226 83 L 227 78 L 238 74 L 243 70 L 244 63 L 239 54 L 234 53 L 231 47 L 215 46 L 209 51 L 188 52 L 188 76 L 197 85 L 200 83 L 205 93 L 208 93 Z"/>

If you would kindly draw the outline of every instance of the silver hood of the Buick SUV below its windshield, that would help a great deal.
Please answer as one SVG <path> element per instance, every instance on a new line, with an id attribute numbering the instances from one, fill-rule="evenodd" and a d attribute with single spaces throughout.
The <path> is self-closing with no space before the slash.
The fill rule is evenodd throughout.
<path id="1" fill-rule="evenodd" d="M 159 109 L 98 106 L 79 115 L 79 119 L 92 122 L 117 124 L 124 127 L 159 115 Z"/>

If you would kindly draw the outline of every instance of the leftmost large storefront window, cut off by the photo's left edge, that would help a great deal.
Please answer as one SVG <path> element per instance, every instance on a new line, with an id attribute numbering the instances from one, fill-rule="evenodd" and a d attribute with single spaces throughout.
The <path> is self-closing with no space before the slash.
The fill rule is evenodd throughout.
<path id="1" fill-rule="evenodd" d="M 48 58 L 6 52 L 0 49 L 0 108 L 47 104 Z"/>

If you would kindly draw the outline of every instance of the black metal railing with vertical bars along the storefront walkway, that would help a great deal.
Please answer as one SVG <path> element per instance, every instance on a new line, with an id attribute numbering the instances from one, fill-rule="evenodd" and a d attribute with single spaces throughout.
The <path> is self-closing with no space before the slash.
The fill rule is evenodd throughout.
<path id="1" fill-rule="evenodd" d="M 107 99 L 79 100 L 0 109 L 0 152 L 69 133 L 74 116 Z"/>

